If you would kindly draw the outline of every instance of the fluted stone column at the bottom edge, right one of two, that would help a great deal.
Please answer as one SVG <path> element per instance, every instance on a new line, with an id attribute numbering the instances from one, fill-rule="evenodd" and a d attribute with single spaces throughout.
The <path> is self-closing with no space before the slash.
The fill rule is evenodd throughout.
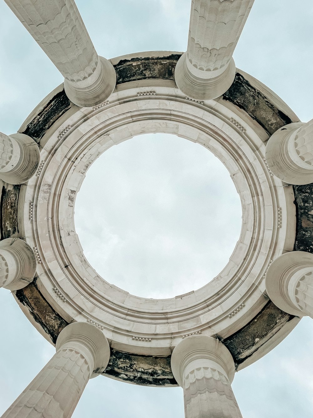
<path id="1" fill-rule="evenodd" d="M 234 360 L 220 341 L 206 335 L 183 339 L 171 367 L 184 389 L 185 418 L 242 418 L 231 387 Z"/>

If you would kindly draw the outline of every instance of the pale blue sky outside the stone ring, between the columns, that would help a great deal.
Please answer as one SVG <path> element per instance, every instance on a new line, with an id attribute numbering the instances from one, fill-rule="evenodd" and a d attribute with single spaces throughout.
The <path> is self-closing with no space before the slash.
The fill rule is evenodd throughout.
<path id="1" fill-rule="evenodd" d="M 106 10 L 100 1 L 92 2 L 88 7 L 82 0 L 76 3 L 97 51 L 103 56 L 148 50 L 183 51 L 186 48 L 190 8 L 187 0 L 160 0 L 149 2 L 149 5 L 144 1 L 117 1 L 106 5 Z M 312 13 L 309 0 L 301 2 L 296 10 L 294 2 L 289 0 L 275 4 L 268 0 L 256 0 L 235 51 L 237 66 L 272 88 L 303 121 L 313 115 L 308 95 Z M 116 22 L 123 31 L 116 30 Z M 161 32 L 160 22 L 163 24 Z M 35 105 L 60 84 L 62 78 L 4 3 L 0 4 L 0 23 L 3 57 L 0 67 L 1 130 L 10 134 L 18 130 Z M 290 51 L 293 51 L 293 59 L 290 59 Z M 227 233 L 228 225 L 223 234 Z M 9 292 L 0 294 L 3 312 L 10 318 L 1 326 L 3 340 L 6 341 L 1 347 L 1 357 L 7 359 L 3 364 L 2 381 L 11 384 L 0 394 L 0 413 L 54 352 L 53 347 L 17 309 L 13 298 L 9 301 L 8 296 Z M 313 363 L 310 347 L 313 332 L 310 327 L 310 322 L 303 319 L 273 352 L 236 375 L 233 388 L 243 416 L 311 416 Z M 21 346 L 23 359 L 27 359 L 23 367 L 20 362 Z M 105 394 L 109 390 L 108 397 Z M 159 393 L 155 388 L 141 388 L 99 378 L 89 382 L 73 417 L 98 416 L 103 411 L 104 399 L 106 412 L 117 418 L 137 416 L 138 405 L 141 411 L 149 411 L 152 418 L 182 416 L 182 393 L 174 388 L 162 389 L 162 402 L 159 402 Z M 293 399 L 292 404 L 290 399 Z"/>

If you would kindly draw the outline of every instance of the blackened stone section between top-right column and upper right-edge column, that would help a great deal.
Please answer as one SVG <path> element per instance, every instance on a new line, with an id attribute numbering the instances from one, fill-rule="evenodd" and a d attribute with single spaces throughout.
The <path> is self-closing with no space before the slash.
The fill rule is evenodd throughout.
<path id="1" fill-rule="evenodd" d="M 292 122 L 290 117 L 284 115 L 264 94 L 256 90 L 242 74 L 236 74 L 234 82 L 223 94 L 223 99 L 245 110 L 269 135 Z"/>

